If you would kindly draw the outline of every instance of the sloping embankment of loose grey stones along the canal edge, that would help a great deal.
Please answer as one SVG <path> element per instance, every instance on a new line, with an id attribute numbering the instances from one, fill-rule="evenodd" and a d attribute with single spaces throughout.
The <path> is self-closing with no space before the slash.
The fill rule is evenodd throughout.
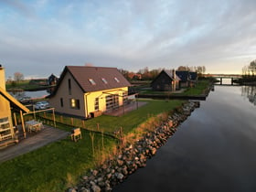
<path id="1" fill-rule="evenodd" d="M 77 187 L 69 188 L 69 192 L 100 192 L 112 191 L 112 187 L 123 182 L 140 167 L 146 165 L 146 160 L 156 154 L 159 147 L 176 132 L 177 126 L 187 119 L 187 116 L 199 107 L 198 101 L 189 101 L 168 116 L 168 121 L 162 123 L 154 132 L 146 133 L 143 139 L 134 144 L 127 144 L 120 149 L 119 155 L 113 156 L 100 168 L 91 170 L 86 176 L 81 176 Z"/>

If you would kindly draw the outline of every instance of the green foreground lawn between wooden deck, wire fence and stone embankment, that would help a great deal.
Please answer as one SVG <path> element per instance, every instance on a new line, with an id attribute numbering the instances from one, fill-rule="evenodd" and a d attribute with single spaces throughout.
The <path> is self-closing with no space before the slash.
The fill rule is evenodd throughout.
<path id="1" fill-rule="evenodd" d="M 0 165 L 1 191 L 64 191 L 94 166 L 89 133 L 74 143 L 70 138 L 6 161 Z M 95 134 L 95 149 L 102 148 L 101 134 Z M 104 137 L 104 146 L 115 144 Z"/>

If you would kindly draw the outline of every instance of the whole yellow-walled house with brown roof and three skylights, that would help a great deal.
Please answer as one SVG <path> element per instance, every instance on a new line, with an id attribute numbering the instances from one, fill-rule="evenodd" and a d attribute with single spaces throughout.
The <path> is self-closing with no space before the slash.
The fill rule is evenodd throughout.
<path id="1" fill-rule="evenodd" d="M 56 112 L 91 118 L 125 104 L 129 86 L 116 68 L 66 66 L 48 98 Z"/>

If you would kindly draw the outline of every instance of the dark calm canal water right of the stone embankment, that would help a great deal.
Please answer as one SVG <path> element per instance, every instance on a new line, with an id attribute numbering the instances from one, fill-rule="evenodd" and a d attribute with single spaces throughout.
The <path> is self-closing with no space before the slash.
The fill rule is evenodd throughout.
<path id="1" fill-rule="evenodd" d="M 256 88 L 215 86 L 115 192 L 255 192 Z"/>

